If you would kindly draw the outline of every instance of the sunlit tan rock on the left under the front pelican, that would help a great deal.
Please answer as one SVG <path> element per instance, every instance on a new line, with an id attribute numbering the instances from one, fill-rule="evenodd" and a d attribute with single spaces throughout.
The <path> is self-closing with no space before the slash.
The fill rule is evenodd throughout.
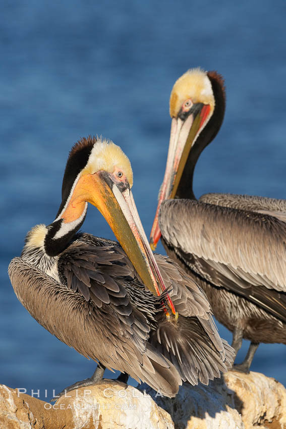
<path id="1" fill-rule="evenodd" d="M 0 385 L 1 429 L 174 429 L 170 415 L 132 386 L 103 383 L 55 403 Z"/>

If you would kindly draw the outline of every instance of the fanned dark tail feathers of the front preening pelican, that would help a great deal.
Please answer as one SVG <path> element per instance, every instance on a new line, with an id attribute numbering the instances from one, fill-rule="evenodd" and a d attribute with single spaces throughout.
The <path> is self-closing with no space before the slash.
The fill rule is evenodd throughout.
<path id="1" fill-rule="evenodd" d="M 220 339 L 211 316 L 202 323 L 199 317 L 181 315 L 177 322 L 168 321 L 164 315 L 157 321 L 151 343 L 174 364 L 183 381 L 207 385 L 232 366 L 234 350 Z"/>

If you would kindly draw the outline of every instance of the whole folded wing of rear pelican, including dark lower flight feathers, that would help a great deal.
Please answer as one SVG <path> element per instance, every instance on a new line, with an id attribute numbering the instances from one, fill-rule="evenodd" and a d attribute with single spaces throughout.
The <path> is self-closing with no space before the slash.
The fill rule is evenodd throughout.
<path id="1" fill-rule="evenodd" d="M 159 224 L 167 246 L 192 271 L 286 321 L 283 222 L 261 213 L 178 199 L 162 204 Z"/>

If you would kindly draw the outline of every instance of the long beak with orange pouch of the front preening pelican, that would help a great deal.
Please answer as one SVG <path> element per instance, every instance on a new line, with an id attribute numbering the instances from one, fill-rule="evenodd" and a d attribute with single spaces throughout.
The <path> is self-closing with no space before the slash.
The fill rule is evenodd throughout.
<path id="1" fill-rule="evenodd" d="M 128 186 L 118 186 L 110 173 L 99 171 L 83 176 L 85 201 L 95 205 L 131 260 L 142 282 L 154 294 L 161 295 L 165 285 L 142 227 L 138 211 Z M 121 184 L 123 185 L 123 184 Z M 166 296 L 173 314 L 173 302 Z M 168 313 L 167 313 L 168 315 Z"/>

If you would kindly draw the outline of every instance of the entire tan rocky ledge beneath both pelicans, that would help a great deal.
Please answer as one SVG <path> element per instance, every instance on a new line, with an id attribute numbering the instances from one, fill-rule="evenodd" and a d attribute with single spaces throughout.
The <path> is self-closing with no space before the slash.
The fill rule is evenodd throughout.
<path id="1" fill-rule="evenodd" d="M 104 381 L 48 403 L 0 385 L 2 429 L 286 429 L 286 390 L 263 374 L 230 371 L 176 398 Z"/>

